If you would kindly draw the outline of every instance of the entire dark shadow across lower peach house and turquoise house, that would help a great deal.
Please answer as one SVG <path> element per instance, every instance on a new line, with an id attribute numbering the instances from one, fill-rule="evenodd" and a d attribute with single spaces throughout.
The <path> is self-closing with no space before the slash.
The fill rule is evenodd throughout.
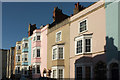
<path id="1" fill-rule="evenodd" d="M 75 77 L 90 80 L 119 80 L 119 54 L 112 37 L 106 37 L 104 54 L 83 56 L 75 61 Z M 111 62 L 111 63 L 110 63 Z M 84 73 L 82 71 L 84 70 Z M 91 77 L 92 75 L 92 77 Z M 92 79 L 92 80 L 93 80 Z"/>

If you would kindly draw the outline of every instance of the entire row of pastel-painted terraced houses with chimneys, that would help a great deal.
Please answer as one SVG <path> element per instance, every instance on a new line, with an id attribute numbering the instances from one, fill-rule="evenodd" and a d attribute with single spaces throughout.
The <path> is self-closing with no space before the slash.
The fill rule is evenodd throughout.
<path id="1" fill-rule="evenodd" d="M 51 24 L 29 24 L 28 37 L 16 42 L 16 78 L 120 80 L 119 6 L 77 3 L 71 16 L 55 7 Z"/>

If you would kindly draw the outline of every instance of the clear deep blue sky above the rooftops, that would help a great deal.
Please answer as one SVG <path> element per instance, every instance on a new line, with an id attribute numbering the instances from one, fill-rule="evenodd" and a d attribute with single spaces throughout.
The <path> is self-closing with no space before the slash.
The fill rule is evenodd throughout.
<path id="1" fill-rule="evenodd" d="M 3 2 L 2 3 L 2 48 L 14 47 L 17 41 L 28 37 L 29 24 L 41 25 L 53 22 L 54 7 L 64 14 L 73 14 L 76 2 Z M 92 3 L 80 3 L 87 7 Z"/>

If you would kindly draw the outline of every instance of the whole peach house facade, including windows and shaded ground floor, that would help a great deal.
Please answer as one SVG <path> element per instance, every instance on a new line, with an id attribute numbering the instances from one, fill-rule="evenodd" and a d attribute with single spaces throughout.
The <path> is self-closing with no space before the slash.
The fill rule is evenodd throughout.
<path id="1" fill-rule="evenodd" d="M 106 78 L 105 30 L 104 2 L 98 1 L 70 17 L 70 78 Z"/>

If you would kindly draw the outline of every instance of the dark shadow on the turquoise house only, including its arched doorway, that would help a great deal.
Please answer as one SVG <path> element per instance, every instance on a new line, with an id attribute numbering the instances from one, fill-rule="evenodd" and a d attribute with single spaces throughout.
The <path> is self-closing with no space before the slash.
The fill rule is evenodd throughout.
<path id="1" fill-rule="evenodd" d="M 118 51 L 117 46 L 115 46 L 113 37 L 108 37 L 108 36 L 106 37 L 105 51 L 106 51 L 108 78 L 110 80 L 119 80 L 120 51 Z"/>

